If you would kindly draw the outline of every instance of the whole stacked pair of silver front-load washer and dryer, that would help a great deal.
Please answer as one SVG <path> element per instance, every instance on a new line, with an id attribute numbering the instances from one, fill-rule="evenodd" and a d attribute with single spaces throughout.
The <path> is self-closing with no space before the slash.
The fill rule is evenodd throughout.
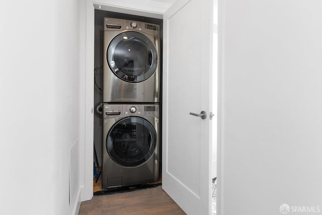
<path id="1" fill-rule="evenodd" d="M 160 29 L 104 18 L 102 188 L 158 180 Z"/>

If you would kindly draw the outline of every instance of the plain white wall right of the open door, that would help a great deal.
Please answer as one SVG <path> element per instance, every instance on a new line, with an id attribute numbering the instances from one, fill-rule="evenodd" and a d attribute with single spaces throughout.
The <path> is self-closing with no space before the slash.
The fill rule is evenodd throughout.
<path id="1" fill-rule="evenodd" d="M 219 6 L 220 214 L 321 214 L 322 2 Z"/>

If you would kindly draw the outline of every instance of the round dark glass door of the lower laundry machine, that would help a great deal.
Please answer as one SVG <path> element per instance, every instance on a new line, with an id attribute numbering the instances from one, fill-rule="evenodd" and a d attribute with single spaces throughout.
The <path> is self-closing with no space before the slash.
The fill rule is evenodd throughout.
<path id="1" fill-rule="evenodd" d="M 117 122 L 109 131 L 106 148 L 111 159 L 124 167 L 136 167 L 152 157 L 156 133 L 152 125 L 139 117 Z"/>

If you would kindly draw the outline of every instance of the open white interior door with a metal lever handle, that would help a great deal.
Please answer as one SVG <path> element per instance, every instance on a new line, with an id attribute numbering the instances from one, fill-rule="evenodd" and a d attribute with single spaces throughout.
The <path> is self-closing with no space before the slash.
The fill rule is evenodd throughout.
<path id="1" fill-rule="evenodd" d="M 188 214 L 211 211 L 212 16 L 211 0 L 164 15 L 163 189 Z"/>

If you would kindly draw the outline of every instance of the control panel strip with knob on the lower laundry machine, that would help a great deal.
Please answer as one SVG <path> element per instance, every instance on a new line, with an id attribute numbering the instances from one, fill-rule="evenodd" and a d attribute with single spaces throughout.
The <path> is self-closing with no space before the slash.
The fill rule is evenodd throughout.
<path id="1" fill-rule="evenodd" d="M 122 116 L 159 117 L 159 105 L 154 104 L 103 104 L 103 118 Z"/>

